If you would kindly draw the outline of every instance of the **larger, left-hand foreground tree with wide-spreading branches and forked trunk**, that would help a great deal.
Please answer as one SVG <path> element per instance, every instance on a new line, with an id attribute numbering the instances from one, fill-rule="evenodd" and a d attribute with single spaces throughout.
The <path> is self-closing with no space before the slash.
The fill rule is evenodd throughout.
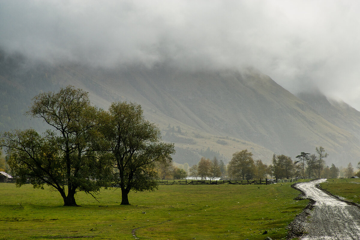
<path id="1" fill-rule="evenodd" d="M 57 93 L 41 93 L 28 114 L 55 130 L 47 130 L 45 136 L 33 129 L 3 134 L 1 146 L 8 150 L 12 173 L 19 176 L 17 186 L 30 181 L 43 189 L 47 184 L 61 194 L 64 206 L 77 205 L 78 191 L 97 193 L 110 168 L 106 155 L 98 151 L 104 113 L 90 105 L 87 92 L 67 86 Z"/>

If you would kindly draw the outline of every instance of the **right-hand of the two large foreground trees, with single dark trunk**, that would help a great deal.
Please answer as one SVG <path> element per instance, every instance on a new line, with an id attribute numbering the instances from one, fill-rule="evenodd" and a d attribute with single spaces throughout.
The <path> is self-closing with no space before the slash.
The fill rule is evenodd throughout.
<path id="1" fill-rule="evenodd" d="M 161 142 L 160 130 L 145 120 L 141 106 L 116 102 L 109 107 L 108 123 L 103 128 L 112 154 L 112 185 L 121 189 L 121 204 L 128 205 L 131 190 L 157 188 L 157 165 L 168 162 L 174 144 Z"/>

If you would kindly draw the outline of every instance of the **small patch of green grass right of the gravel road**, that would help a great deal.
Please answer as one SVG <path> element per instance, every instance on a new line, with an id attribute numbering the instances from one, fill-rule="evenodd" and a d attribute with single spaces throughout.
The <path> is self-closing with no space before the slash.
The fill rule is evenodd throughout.
<path id="1" fill-rule="evenodd" d="M 328 179 L 320 186 L 336 196 L 354 203 L 360 202 L 360 178 Z"/>

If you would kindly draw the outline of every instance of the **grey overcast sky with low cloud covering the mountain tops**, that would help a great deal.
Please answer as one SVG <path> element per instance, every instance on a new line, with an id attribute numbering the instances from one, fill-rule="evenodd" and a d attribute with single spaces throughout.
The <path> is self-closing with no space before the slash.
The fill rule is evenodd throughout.
<path id="1" fill-rule="evenodd" d="M 105 67 L 253 66 L 360 110 L 358 0 L 0 0 L 0 46 Z"/>

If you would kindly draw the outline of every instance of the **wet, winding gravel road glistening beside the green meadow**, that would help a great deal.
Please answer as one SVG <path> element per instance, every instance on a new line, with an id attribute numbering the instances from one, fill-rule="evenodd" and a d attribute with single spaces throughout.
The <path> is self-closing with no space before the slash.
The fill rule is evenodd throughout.
<path id="1" fill-rule="evenodd" d="M 310 217 L 300 224 L 306 235 L 301 240 L 359 240 L 360 209 L 325 193 L 317 186 L 326 179 L 301 182 L 294 187 L 315 200 Z"/>

